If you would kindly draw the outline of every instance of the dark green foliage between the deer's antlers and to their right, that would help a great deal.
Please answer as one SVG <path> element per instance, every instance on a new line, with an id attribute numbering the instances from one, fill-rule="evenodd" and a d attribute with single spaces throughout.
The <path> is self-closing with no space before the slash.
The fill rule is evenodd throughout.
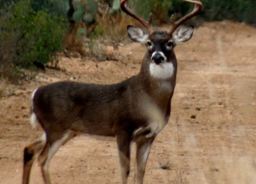
<path id="1" fill-rule="evenodd" d="M 255 0 L 203 0 L 204 10 L 199 19 L 213 20 L 236 20 L 256 25 L 256 1 Z M 171 14 L 184 15 L 193 7 L 190 3 L 182 0 L 131 0 L 136 12 L 144 18 L 153 12 L 160 22 L 168 21 Z"/>

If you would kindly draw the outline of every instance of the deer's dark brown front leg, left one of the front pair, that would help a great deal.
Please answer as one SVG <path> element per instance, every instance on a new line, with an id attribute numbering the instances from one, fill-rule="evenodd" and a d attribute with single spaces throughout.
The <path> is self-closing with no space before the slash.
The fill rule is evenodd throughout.
<path id="1" fill-rule="evenodd" d="M 130 142 L 132 136 L 126 131 L 117 134 L 117 146 L 121 166 L 122 184 L 127 184 L 130 173 Z"/>

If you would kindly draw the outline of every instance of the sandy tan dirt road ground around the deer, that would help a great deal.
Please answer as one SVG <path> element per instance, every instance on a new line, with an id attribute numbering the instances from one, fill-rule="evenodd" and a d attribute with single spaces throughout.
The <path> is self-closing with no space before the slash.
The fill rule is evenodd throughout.
<path id="1" fill-rule="evenodd" d="M 61 58 L 22 85 L 0 82 L 0 183 L 21 183 L 24 146 L 42 134 L 29 123 L 31 92 L 64 79 L 109 84 L 136 74 L 145 48 L 114 52 L 119 61 Z M 176 47 L 178 79 L 171 118 L 153 143 L 144 183 L 256 183 L 256 28 L 205 23 Z M 134 147 L 129 183 L 134 182 Z M 166 169 L 162 169 L 165 167 Z M 121 183 L 115 139 L 80 136 L 50 164 L 52 183 Z M 37 161 L 31 183 L 43 183 Z"/>

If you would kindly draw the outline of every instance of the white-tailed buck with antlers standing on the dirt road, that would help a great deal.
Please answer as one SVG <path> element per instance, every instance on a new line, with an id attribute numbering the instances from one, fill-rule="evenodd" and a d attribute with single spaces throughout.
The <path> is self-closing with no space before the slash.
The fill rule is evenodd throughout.
<path id="1" fill-rule="evenodd" d="M 127 183 L 130 170 L 130 144 L 136 144 L 135 183 L 142 183 L 145 165 L 155 136 L 167 124 L 171 97 L 175 88 L 176 44 L 190 40 L 193 27 L 181 27 L 185 20 L 201 12 L 201 1 L 189 14 L 172 22 L 169 32 L 153 31 L 149 22 L 140 18 L 121 1 L 121 9 L 139 20 L 139 27 L 127 27 L 129 37 L 147 47 L 139 74 L 117 84 L 100 85 L 79 82 L 56 82 L 39 87 L 32 94 L 32 125 L 40 124 L 42 138 L 24 149 L 23 184 L 29 183 L 33 161 L 38 157 L 43 180 L 50 184 L 48 166 L 53 155 L 77 134 L 116 136 L 121 164 L 122 183 Z"/>

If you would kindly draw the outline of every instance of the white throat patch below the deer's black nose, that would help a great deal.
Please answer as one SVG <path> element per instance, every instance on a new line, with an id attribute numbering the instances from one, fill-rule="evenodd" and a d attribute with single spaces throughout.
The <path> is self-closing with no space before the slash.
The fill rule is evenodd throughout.
<path id="1" fill-rule="evenodd" d="M 165 62 L 162 64 L 150 63 L 149 65 L 150 75 L 157 79 L 169 79 L 173 76 L 174 67 L 173 63 Z"/>

